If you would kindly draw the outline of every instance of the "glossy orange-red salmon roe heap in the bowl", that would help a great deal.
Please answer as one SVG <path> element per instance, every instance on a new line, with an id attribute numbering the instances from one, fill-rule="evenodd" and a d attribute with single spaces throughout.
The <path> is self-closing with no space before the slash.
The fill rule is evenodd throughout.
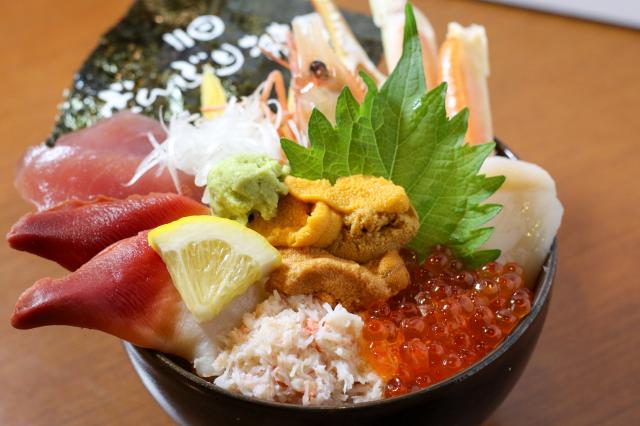
<path id="1" fill-rule="evenodd" d="M 361 350 L 386 380 L 385 396 L 421 389 L 475 363 L 500 344 L 531 310 L 522 267 L 487 263 L 464 269 L 437 246 L 422 265 L 402 256 L 411 284 L 362 313 Z"/>

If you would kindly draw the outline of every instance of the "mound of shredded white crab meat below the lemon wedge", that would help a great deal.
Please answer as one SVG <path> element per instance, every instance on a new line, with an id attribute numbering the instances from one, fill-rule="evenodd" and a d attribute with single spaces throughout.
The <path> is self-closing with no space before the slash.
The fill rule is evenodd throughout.
<path id="1" fill-rule="evenodd" d="M 274 292 L 229 334 L 213 364 L 215 384 L 302 405 L 380 399 L 382 380 L 359 354 L 362 325 L 341 305 Z"/>

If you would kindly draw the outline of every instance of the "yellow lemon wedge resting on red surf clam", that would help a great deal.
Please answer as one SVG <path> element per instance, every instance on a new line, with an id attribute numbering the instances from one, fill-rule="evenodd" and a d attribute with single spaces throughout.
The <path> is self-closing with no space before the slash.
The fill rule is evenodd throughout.
<path id="1" fill-rule="evenodd" d="M 173 284 L 200 322 L 217 316 L 282 260 L 257 232 L 214 216 L 188 216 L 149 232 L 149 245 L 167 265 Z"/>

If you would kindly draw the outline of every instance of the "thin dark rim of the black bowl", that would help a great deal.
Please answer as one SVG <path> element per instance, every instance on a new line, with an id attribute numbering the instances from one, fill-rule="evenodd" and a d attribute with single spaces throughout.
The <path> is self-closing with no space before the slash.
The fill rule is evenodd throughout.
<path id="1" fill-rule="evenodd" d="M 498 155 L 507 157 L 509 159 L 517 160 L 518 156 L 511 151 L 506 145 L 496 139 L 496 152 Z M 283 402 L 275 402 L 275 401 L 265 401 L 262 399 L 258 399 L 255 397 L 245 396 L 236 392 L 231 392 L 224 388 L 221 388 L 215 385 L 212 382 L 209 382 L 202 377 L 198 376 L 195 373 L 187 371 L 176 362 L 171 360 L 171 358 L 159 351 L 153 349 L 142 348 L 139 346 L 135 346 L 131 343 L 124 342 L 124 345 L 127 347 L 127 350 L 132 349 L 134 351 L 146 354 L 146 358 L 149 360 L 157 360 L 164 367 L 169 368 L 173 372 L 182 376 L 184 379 L 188 380 L 193 386 L 196 386 L 199 390 L 208 393 L 221 393 L 229 398 L 237 399 L 243 402 L 248 402 L 252 404 L 261 405 L 269 408 L 276 408 L 287 411 L 305 411 L 305 412 L 328 412 L 328 411 L 358 411 L 362 409 L 367 409 L 371 407 L 380 407 L 398 404 L 408 399 L 415 398 L 420 395 L 426 395 L 431 392 L 435 392 L 438 389 L 444 388 L 452 383 L 461 382 L 469 377 L 475 375 L 477 372 L 482 370 L 487 365 L 493 363 L 498 358 L 500 358 L 508 349 L 510 349 L 515 342 L 517 342 L 520 337 L 527 331 L 529 326 L 534 322 L 534 320 L 538 317 L 543 307 L 546 305 L 547 300 L 549 299 L 549 294 L 551 293 L 551 287 L 553 285 L 555 271 L 558 262 L 558 244 L 557 239 L 554 238 L 553 243 L 551 244 L 551 248 L 549 249 L 549 253 L 542 265 L 542 269 L 537 277 L 536 283 L 536 291 L 533 300 L 533 304 L 531 306 L 531 311 L 527 316 L 525 316 L 513 329 L 513 331 L 507 335 L 507 337 L 496 347 L 494 350 L 489 352 L 478 362 L 470 365 L 464 370 L 459 371 L 455 375 L 442 380 L 440 382 L 434 383 L 432 385 L 427 386 L 424 389 L 420 389 L 417 391 L 412 391 L 406 393 L 404 395 L 399 395 L 391 398 L 384 398 L 376 401 L 368 401 L 368 402 L 358 402 L 358 403 L 348 403 L 342 405 L 326 405 L 326 406 L 304 406 L 299 404 L 291 404 L 291 403 L 283 403 Z"/>

